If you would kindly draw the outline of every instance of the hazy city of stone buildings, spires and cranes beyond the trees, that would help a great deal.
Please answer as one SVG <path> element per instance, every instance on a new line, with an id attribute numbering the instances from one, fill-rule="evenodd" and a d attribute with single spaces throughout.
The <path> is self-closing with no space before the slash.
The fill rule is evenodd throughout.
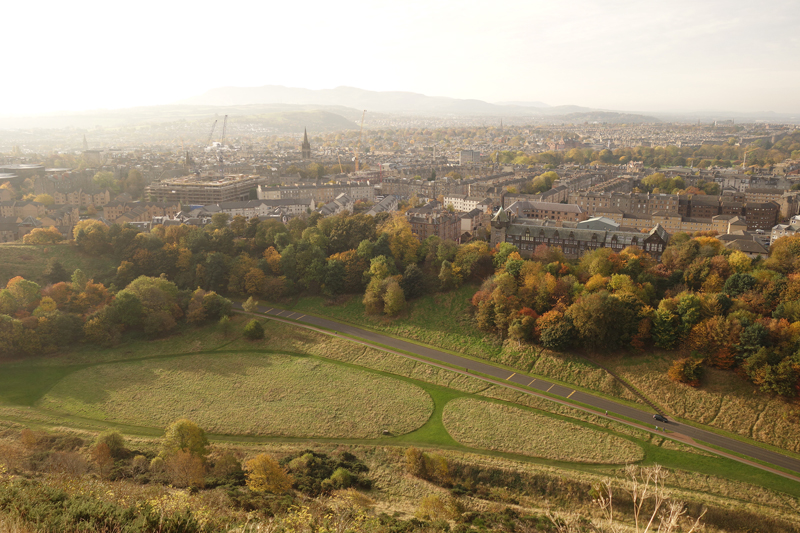
<path id="1" fill-rule="evenodd" d="M 743 161 L 736 167 L 698 160 L 653 169 L 628 157 L 610 163 L 585 159 L 589 154 L 604 158 L 620 148 L 661 147 L 673 155 L 686 146 L 735 149 L 772 144 L 794 131 L 793 126 L 734 127 L 722 122 L 549 129 L 501 122 L 499 127 L 425 128 L 410 134 L 387 129 L 369 132 L 367 148 L 358 145 L 358 171 L 350 164 L 355 138 L 346 132 L 309 138 L 306 130 L 296 144 L 276 137 L 261 144 L 234 141 L 200 149 L 186 149 L 182 140 L 180 150 L 89 149 L 84 136 L 80 150 L 49 158 L 58 166 L 46 165 L 41 156 L 19 146 L 0 160 L 0 184 L 8 184 L 0 187 L 0 241 L 19 240 L 34 228 L 49 226 L 71 238 L 72 227 L 85 218 L 146 229 L 165 221 L 201 224 L 217 212 L 285 222 L 315 211 L 322 216 L 343 211 L 377 215 L 405 206 L 412 231 L 421 240 L 430 235 L 456 242 L 489 239 L 490 222 L 501 210 L 503 223 L 509 224 L 506 236 L 509 242 L 523 239 L 521 250 L 545 243 L 561 246 L 568 255 L 568 250 L 579 254 L 589 246 L 580 244 L 586 231 L 605 232 L 590 240 L 608 239 L 612 247 L 651 244 L 641 235 L 663 238 L 707 231 L 736 234 L 738 241 L 755 243 L 747 245 L 752 253 L 763 255 L 776 235 L 797 229 L 792 222 L 800 214 L 797 160 L 749 166 Z M 746 151 L 745 158 L 753 151 Z M 562 161 L 526 162 L 529 154 L 544 154 L 545 159 L 560 154 Z M 751 155 L 751 162 L 755 157 Z M 69 162 L 79 164 L 67 166 Z M 141 175 L 138 191 L 114 192 L 98 187 L 94 179 L 106 173 L 122 182 L 132 170 Z M 525 192 L 527 184 L 548 171 L 558 176 L 551 187 Z M 655 172 L 694 190 L 647 192 L 642 180 Z M 713 194 L 698 188 L 708 184 Z M 15 190 L 30 192 L 20 198 Z M 42 195 L 52 201 L 36 201 Z M 563 230 L 556 228 L 569 228 L 572 237 L 563 240 Z M 532 229 L 535 235 L 525 240 Z"/>

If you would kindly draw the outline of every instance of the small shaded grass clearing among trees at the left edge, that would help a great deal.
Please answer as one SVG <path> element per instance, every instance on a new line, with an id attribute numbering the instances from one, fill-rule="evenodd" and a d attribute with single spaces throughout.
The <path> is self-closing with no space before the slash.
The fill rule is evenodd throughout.
<path id="1" fill-rule="evenodd" d="M 0 244 L 0 287 L 5 287 L 8 280 L 19 275 L 44 286 L 42 273 L 51 258 L 58 259 L 68 273 L 80 268 L 90 279 L 99 279 L 116 267 L 108 257 L 83 255 L 69 244 Z"/>

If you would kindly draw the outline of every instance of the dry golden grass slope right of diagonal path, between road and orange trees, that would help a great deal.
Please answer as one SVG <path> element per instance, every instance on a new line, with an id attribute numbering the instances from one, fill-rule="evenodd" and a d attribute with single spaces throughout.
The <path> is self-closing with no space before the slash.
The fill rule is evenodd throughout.
<path id="1" fill-rule="evenodd" d="M 614 358 L 604 364 L 667 413 L 800 452 L 800 406 L 756 392 L 733 372 L 707 368 L 699 388 L 672 382 L 673 355 Z"/>

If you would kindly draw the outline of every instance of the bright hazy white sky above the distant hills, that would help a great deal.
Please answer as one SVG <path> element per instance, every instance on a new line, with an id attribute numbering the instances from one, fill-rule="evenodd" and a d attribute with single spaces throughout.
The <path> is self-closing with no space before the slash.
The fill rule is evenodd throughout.
<path id="1" fill-rule="evenodd" d="M 798 0 L 16 0 L 3 19 L 2 114 L 267 84 L 800 111 Z"/>

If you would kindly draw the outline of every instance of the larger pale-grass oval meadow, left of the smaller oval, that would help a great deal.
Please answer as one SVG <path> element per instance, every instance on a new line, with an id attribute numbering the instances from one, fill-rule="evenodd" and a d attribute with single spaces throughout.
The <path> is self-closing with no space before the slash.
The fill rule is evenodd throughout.
<path id="1" fill-rule="evenodd" d="M 231 435 L 376 438 L 412 431 L 433 409 L 409 383 L 308 357 L 219 354 L 94 366 L 37 406 L 124 424 L 190 418 Z"/>

